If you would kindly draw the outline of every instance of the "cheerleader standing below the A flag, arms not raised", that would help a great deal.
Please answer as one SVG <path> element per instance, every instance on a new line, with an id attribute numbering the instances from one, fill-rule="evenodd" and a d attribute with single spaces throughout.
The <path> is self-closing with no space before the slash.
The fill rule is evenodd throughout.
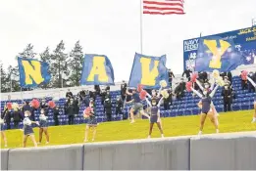
<path id="1" fill-rule="evenodd" d="M 88 122 L 85 127 L 84 133 L 84 143 L 88 142 L 88 133 L 90 128 L 92 129 L 92 142 L 94 142 L 97 132 L 97 118 L 96 118 L 96 107 L 94 106 L 93 102 L 90 102 L 89 107 L 91 107 L 90 115 L 88 116 Z"/>

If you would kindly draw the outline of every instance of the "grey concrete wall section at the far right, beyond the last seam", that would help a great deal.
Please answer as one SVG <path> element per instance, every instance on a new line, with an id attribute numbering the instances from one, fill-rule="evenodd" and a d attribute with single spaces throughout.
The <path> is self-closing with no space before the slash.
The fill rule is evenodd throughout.
<path id="1" fill-rule="evenodd" d="M 191 170 L 255 170 L 256 132 L 190 139 Z"/>

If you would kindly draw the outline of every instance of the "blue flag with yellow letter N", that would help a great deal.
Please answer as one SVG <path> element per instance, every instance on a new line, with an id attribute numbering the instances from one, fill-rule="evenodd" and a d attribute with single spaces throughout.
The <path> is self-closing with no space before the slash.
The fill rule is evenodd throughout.
<path id="1" fill-rule="evenodd" d="M 18 58 L 21 87 L 37 87 L 51 80 L 49 64 L 34 59 Z"/>

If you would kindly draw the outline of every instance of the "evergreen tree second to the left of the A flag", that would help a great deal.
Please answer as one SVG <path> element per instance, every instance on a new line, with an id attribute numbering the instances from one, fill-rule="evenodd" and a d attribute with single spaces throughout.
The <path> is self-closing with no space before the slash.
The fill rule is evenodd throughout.
<path id="1" fill-rule="evenodd" d="M 53 87 L 65 86 L 66 81 L 63 77 L 68 76 L 70 71 L 68 70 L 68 55 L 64 53 L 65 47 L 63 40 L 57 45 L 51 56 L 52 63 L 52 80 Z"/>

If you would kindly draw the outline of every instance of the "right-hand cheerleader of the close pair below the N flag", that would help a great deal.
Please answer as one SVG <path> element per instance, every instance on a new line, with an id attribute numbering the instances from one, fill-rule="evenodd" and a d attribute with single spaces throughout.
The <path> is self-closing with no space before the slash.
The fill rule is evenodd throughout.
<path id="1" fill-rule="evenodd" d="M 39 142 L 38 144 L 41 144 L 42 142 L 42 134 L 45 134 L 46 137 L 46 144 L 49 144 L 49 133 L 48 133 L 48 121 L 47 116 L 45 115 L 44 108 L 41 109 L 41 114 L 39 115 Z"/>

